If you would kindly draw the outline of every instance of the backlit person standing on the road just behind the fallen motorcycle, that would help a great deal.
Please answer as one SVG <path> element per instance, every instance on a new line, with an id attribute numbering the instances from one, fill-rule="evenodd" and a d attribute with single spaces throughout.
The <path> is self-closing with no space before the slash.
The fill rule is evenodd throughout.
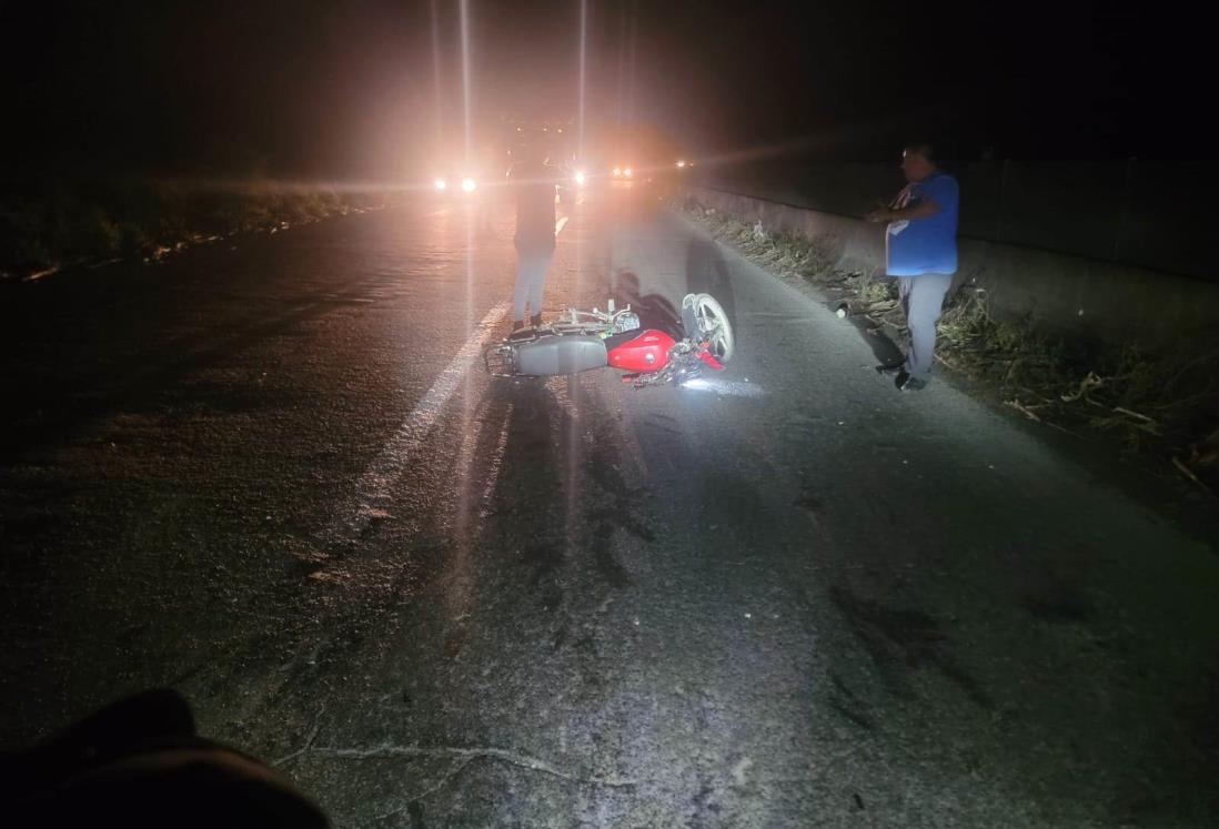
<path id="1" fill-rule="evenodd" d="M 546 163 L 546 154 L 538 141 L 519 150 L 517 162 L 508 169 L 517 205 L 517 284 L 512 294 L 512 329 L 525 324 L 541 324 L 541 295 L 546 285 L 546 268 L 555 256 L 555 187 L 557 177 Z"/>

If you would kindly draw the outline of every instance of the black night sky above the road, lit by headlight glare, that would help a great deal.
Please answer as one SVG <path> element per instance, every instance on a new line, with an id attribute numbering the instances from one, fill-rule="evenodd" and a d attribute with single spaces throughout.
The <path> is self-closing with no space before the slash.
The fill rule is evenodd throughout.
<path id="1" fill-rule="evenodd" d="M 440 124 L 461 122 L 456 0 Z M 471 0 L 472 109 L 578 116 L 578 0 Z M 586 117 L 713 155 L 1201 157 L 1210 45 L 1164 4 L 590 0 Z M 363 2 L 0 5 L 4 165 L 394 176 L 436 140 L 432 13 Z M 897 145 L 895 148 L 895 144 Z"/>

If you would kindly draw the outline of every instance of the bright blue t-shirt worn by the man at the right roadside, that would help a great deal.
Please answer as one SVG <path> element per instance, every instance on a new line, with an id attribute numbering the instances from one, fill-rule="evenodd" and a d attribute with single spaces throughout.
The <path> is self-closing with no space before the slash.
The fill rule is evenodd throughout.
<path id="1" fill-rule="evenodd" d="M 957 179 L 934 173 L 906 188 L 901 206 L 933 201 L 940 208 L 928 218 L 890 222 L 885 232 L 885 265 L 891 277 L 957 272 Z"/>

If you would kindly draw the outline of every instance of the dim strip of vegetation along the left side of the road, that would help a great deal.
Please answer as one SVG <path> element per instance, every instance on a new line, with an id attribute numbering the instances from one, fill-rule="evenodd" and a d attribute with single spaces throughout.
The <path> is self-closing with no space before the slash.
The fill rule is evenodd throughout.
<path id="1" fill-rule="evenodd" d="M 160 182 L 6 188 L 0 195 L 0 278 L 21 279 L 108 260 L 154 262 L 239 233 L 273 233 L 385 206 L 384 193 L 271 184 Z"/>

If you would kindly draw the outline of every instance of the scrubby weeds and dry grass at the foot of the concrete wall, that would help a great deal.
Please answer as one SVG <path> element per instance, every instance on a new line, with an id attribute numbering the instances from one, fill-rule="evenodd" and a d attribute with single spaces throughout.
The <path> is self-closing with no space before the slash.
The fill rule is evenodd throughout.
<path id="1" fill-rule="evenodd" d="M 862 316 L 898 344 L 906 338 L 895 280 L 837 269 L 818 240 L 769 233 L 695 200 L 679 210 L 753 262 L 816 288 L 840 315 Z M 969 286 L 951 297 L 939 332 L 936 360 L 1023 417 L 1076 436 L 1103 436 L 1219 493 L 1219 344 L 1153 355 L 1135 345 L 1072 343 L 1029 318 L 993 317 L 986 293 Z"/>

